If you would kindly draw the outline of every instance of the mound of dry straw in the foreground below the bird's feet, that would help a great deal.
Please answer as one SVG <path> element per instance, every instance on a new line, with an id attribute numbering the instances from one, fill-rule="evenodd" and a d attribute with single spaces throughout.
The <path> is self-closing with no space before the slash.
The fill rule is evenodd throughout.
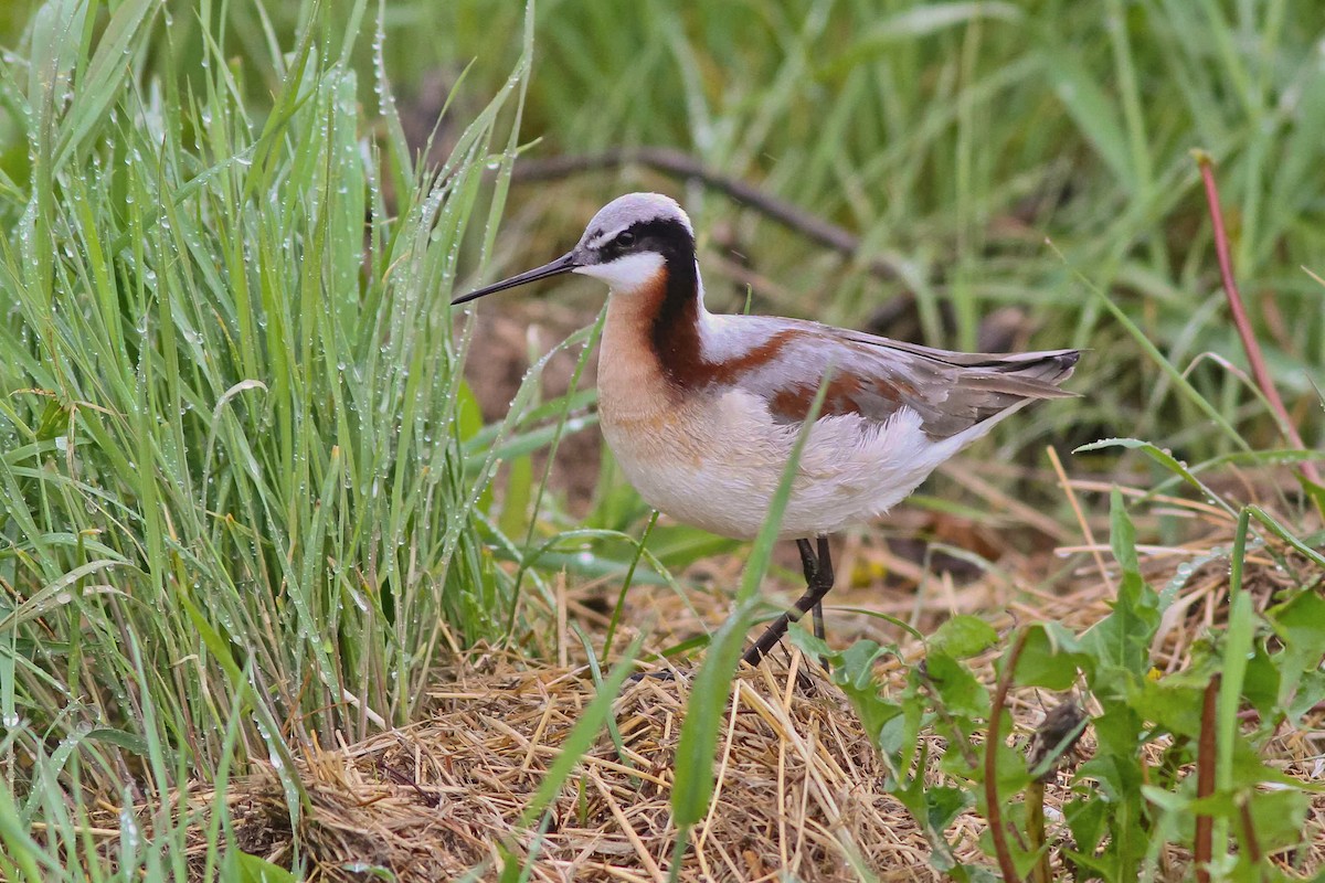
<path id="1" fill-rule="evenodd" d="M 798 654 L 792 665 L 800 663 Z M 855 880 L 852 866 L 930 879 L 925 838 L 882 793 L 884 770 L 844 699 L 822 682 L 814 695 L 788 683 L 786 661 L 738 680 L 717 798 L 692 835 L 681 879 L 778 879 L 787 868 L 806 880 Z M 537 850 L 535 880 L 666 879 L 682 678 L 629 686 L 615 707 L 621 749 L 604 735 L 584 757 L 541 843 L 518 825 L 592 696 L 582 669 L 518 670 L 488 658 L 456 671 L 433 694 L 428 721 L 306 759 L 314 810 L 301 830 L 305 847 L 333 879 L 364 864 L 401 880 L 454 879 L 496 864 L 501 843 L 517 855 Z M 232 812 L 249 849 L 286 858 L 288 813 L 274 776 L 235 789 Z M 974 855 L 974 819 L 963 823 Z"/>

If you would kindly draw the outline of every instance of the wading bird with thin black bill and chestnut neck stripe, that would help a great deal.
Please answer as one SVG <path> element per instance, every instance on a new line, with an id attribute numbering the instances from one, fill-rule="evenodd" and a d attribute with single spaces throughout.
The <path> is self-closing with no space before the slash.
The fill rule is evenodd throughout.
<path id="1" fill-rule="evenodd" d="M 796 543 L 806 592 L 745 651 L 753 666 L 807 613 L 824 637 L 829 535 L 886 514 L 1027 404 L 1075 395 L 1060 384 L 1079 349 L 950 352 L 803 319 L 709 312 L 694 226 L 661 193 L 612 200 L 562 257 L 452 306 L 567 273 L 608 286 L 599 426 L 649 506 L 754 539 L 812 420 L 778 528 Z"/>

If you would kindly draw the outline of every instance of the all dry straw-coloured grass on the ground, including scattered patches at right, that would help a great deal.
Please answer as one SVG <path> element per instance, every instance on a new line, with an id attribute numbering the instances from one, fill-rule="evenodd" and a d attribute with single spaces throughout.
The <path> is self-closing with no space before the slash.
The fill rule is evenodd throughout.
<path id="1" fill-rule="evenodd" d="M 1203 535 L 1189 545 L 1147 551 L 1147 577 L 1163 586 L 1182 563 L 1215 544 L 1212 537 L 1228 536 L 1231 524 L 1222 512 L 1202 504 L 1157 504 L 1186 514 L 1194 522 L 1192 534 Z M 1069 569 L 1069 590 L 1044 588 L 1030 579 L 1048 572 L 1052 559 L 1028 556 L 1015 568 L 965 582 L 943 575 L 926 577 L 937 589 L 921 596 L 905 579 L 894 579 L 893 588 L 882 592 L 876 584 L 869 589 L 869 606 L 896 608 L 894 613 L 910 616 L 922 629 L 954 612 L 978 612 L 1000 629 L 1044 618 L 1080 630 L 1105 616 L 1113 575 L 1100 567 L 1109 559 L 1097 564 L 1089 549 L 1079 552 L 1081 569 Z M 848 541 L 843 572 L 882 567 L 896 577 L 910 567 L 888 555 L 881 547 Z M 706 568 L 708 576 L 722 584 L 738 563 L 709 561 Z M 1248 556 L 1246 585 L 1257 608 L 1284 584 L 1285 575 L 1269 556 Z M 1191 642 L 1207 626 L 1222 622 L 1226 590 L 1224 565 L 1191 571 L 1153 647 L 1157 666 L 1174 670 L 1183 665 Z M 603 586 L 584 585 L 563 593 L 570 616 L 598 635 L 602 592 Z M 863 592 L 844 586 L 837 600 L 843 606 L 865 605 Z M 721 621 L 726 609 L 721 593 L 681 600 L 664 589 L 641 586 L 632 593 L 628 621 L 666 624 L 668 629 L 651 641 L 661 647 Z M 839 614 L 831 625 L 840 641 L 861 634 L 897 639 L 889 626 L 868 617 Z M 602 735 L 554 802 L 542 835 L 521 825 L 526 802 L 595 695 L 583 651 L 574 643 L 560 643 L 556 650 L 567 665 L 539 666 L 501 653 L 472 654 L 431 694 L 424 720 L 355 745 L 305 749 L 298 773 L 310 809 L 299 823 L 298 841 L 314 878 L 366 879 L 372 868 L 383 868 L 399 880 L 439 880 L 458 879 L 477 868 L 477 879 L 496 879 L 505 849 L 521 859 L 534 857 L 533 880 L 668 879 L 677 835 L 669 810 L 670 770 L 689 695 L 684 670 L 669 680 L 645 678 L 628 684 L 613 708 L 620 747 L 608 733 Z M 890 688 L 900 688 L 906 666 L 922 655 L 922 645 L 914 641 L 904 642 L 900 650 L 901 659 L 885 657 L 877 670 Z M 995 655 L 977 661 L 988 683 L 994 680 Z M 717 796 L 705 822 L 692 833 L 678 879 L 774 880 L 783 879 L 783 871 L 802 880 L 938 879 L 929 866 L 925 835 L 885 793 L 884 769 L 855 712 L 822 678 L 816 676 L 808 691 L 795 686 L 792 670 L 802 666 L 799 653 L 775 654 L 759 670 L 741 674 L 719 740 Z M 1016 724 L 1010 737 L 1024 743 L 1063 698 L 1020 690 L 1008 699 Z M 1318 719 L 1313 729 L 1281 732 L 1273 741 L 1276 765 L 1318 781 L 1325 773 L 1322 728 L 1325 721 Z M 931 757 L 943 747 L 935 740 L 933 748 Z M 1080 756 L 1089 756 L 1092 748 L 1088 729 Z M 1151 749 L 1157 763 L 1159 747 Z M 941 777 L 934 764 L 930 780 Z M 1067 839 L 1065 829 L 1053 819 L 1068 796 L 1061 781 L 1045 789 L 1051 842 Z M 201 812 L 212 800 L 207 792 L 195 792 L 193 808 Z M 240 846 L 288 866 L 294 833 L 274 773 L 258 772 L 232 782 L 228 801 Z M 143 815 L 146 823 L 150 813 Z M 982 830 L 982 819 L 966 813 L 947 831 L 962 860 L 987 863 L 978 846 Z M 1285 866 L 1325 867 L 1325 798 L 1313 804 L 1306 843 L 1304 855 L 1283 857 Z M 1175 850 L 1162 855 L 1162 879 L 1182 879 L 1189 858 Z M 1053 860 L 1065 871 L 1057 850 Z"/>

